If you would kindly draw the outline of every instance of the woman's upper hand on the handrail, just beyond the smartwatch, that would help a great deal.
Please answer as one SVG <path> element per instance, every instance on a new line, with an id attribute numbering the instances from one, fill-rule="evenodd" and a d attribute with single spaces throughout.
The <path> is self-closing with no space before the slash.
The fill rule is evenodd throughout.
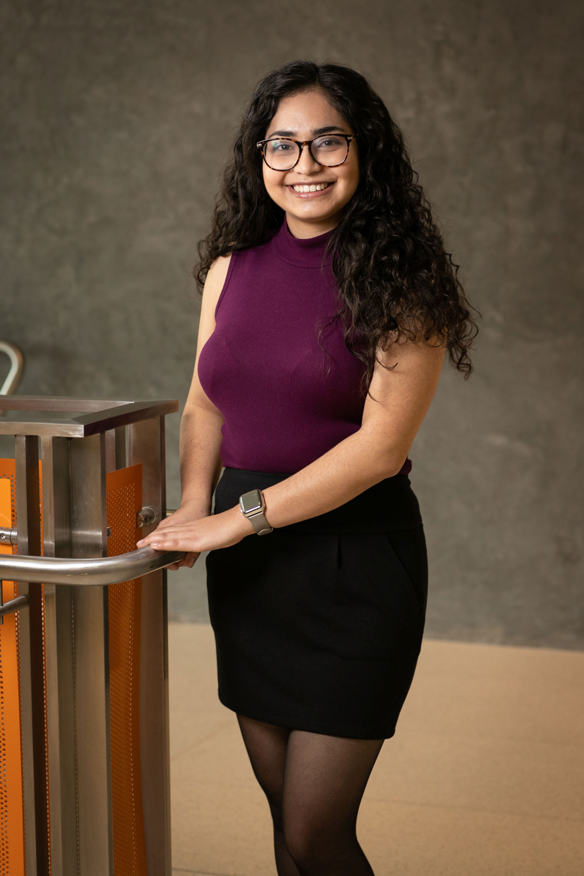
<path id="1" fill-rule="evenodd" d="M 172 518 L 170 518 L 172 519 Z M 158 527 L 137 541 L 137 548 L 150 545 L 155 550 L 179 550 L 186 553 L 201 554 L 215 548 L 230 548 L 255 533 L 250 521 L 243 517 L 239 505 L 220 514 L 200 517 L 184 523 L 172 525 L 168 520 L 165 526 Z"/>

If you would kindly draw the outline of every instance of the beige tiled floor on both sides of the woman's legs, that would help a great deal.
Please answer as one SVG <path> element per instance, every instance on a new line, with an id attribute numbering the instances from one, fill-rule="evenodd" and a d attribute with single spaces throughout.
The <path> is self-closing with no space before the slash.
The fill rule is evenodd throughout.
<path id="1" fill-rule="evenodd" d="M 376 876 L 582 876 L 583 695 L 584 653 L 426 639 L 360 810 Z M 170 698 L 173 873 L 276 876 L 209 625 L 170 625 Z"/>

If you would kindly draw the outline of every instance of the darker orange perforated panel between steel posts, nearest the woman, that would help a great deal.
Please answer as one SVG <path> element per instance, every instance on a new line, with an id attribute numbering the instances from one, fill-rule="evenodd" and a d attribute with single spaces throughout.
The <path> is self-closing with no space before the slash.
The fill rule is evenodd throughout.
<path id="1" fill-rule="evenodd" d="M 108 556 L 136 550 L 142 466 L 109 472 L 106 489 Z M 108 596 L 114 872 L 146 876 L 139 732 L 142 579 L 113 584 Z"/>

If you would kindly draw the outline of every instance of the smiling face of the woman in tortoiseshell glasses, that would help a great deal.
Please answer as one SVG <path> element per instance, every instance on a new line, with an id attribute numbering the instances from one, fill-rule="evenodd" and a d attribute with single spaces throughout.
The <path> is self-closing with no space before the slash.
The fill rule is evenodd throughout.
<path id="1" fill-rule="evenodd" d="M 264 135 L 309 140 L 319 134 L 354 134 L 345 119 L 327 101 L 319 88 L 283 97 L 276 115 Z M 346 161 L 324 167 L 312 158 L 305 146 L 299 163 L 288 171 L 271 170 L 262 160 L 264 185 L 272 201 L 285 210 L 288 228 L 294 237 L 316 237 L 331 230 L 341 219 L 341 209 L 355 194 L 359 182 L 356 140 L 351 140 Z M 315 192 L 294 187 L 326 183 Z"/>

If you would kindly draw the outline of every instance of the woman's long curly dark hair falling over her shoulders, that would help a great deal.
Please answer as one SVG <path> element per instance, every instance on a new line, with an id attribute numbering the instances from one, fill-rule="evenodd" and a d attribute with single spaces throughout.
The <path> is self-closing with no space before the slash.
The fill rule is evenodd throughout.
<path id="1" fill-rule="evenodd" d="M 421 338 L 437 337 L 466 380 L 478 328 L 457 276 L 460 265 L 445 251 L 398 125 L 350 67 L 295 60 L 257 84 L 223 173 L 211 231 L 198 246 L 193 274 L 199 291 L 215 258 L 264 244 L 281 227 L 284 210 L 266 192 L 256 144 L 280 100 L 309 88 L 322 89 L 357 135 L 359 182 L 327 240 L 327 253 L 334 253 L 341 300 L 333 319 L 341 319 L 348 350 L 365 364 L 363 391 L 377 350 Z"/>

